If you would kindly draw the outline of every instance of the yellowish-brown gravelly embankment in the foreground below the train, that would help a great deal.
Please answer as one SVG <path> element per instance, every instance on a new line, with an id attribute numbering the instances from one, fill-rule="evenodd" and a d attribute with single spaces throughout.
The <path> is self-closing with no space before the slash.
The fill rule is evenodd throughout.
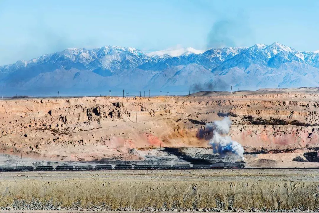
<path id="1" fill-rule="evenodd" d="M 86 210 L 319 210 L 314 170 L 0 173 L 0 207 Z"/>

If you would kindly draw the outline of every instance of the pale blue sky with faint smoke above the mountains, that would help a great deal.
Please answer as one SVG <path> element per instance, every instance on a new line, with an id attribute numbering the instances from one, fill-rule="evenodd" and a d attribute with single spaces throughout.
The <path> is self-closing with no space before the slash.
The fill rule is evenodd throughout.
<path id="1" fill-rule="evenodd" d="M 0 65 L 66 48 L 319 49 L 319 1 L 0 0 Z"/>

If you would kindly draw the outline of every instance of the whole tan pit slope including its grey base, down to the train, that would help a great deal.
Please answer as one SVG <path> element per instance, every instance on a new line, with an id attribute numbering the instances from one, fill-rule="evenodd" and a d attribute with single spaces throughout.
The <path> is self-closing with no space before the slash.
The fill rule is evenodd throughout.
<path id="1" fill-rule="evenodd" d="M 211 162 L 219 157 L 199 133 L 228 116 L 248 167 L 317 167 L 318 100 L 311 89 L 3 99 L 0 163 Z"/>

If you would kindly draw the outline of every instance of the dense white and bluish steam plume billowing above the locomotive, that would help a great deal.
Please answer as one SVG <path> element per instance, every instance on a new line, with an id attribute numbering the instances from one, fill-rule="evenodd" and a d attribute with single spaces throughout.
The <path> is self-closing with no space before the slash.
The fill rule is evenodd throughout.
<path id="1" fill-rule="evenodd" d="M 206 124 L 206 131 L 213 133 L 209 144 L 212 146 L 214 153 L 218 153 L 220 156 L 233 154 L 238 156 L 240 160 L 244 160 L 244 148 L 241 144 L 233 141 L 230 136 L 221 135 L 221 133 L 227 134 L 231 125 L 232 121 L 228 117 L 225 117 L 221 121 Z"/>

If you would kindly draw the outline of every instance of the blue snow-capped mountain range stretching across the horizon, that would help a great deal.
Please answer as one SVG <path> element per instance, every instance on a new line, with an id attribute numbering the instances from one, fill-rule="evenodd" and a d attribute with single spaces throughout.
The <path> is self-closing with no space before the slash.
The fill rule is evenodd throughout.
<path id="1" fill-rule="evenodd" d="M 172 49 L 171 49 L 172 50 Z M 200 50 L 184 48 L 145 54 L 135 48 L 104 46 L 65 49 L 30 61 L 0 66 L 4 95 L 46 95 L 65 91 L 105 93 L 147 90 L 318 87 L 319 53 L 279 43 Z M 0 94 L 1 95 L 1 94 Z"/>

